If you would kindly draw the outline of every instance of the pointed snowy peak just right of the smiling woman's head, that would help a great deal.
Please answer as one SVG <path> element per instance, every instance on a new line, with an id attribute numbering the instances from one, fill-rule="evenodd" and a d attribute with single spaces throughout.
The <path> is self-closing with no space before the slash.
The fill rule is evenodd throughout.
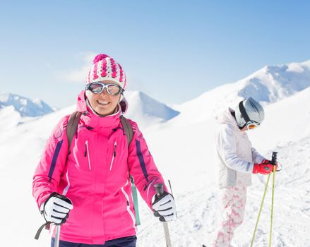
<path id="1" fill-rule="evenodd" d="M 129 102 L 129 109 L 126 116 L 129 116 L 133 120 L 148 117 L 157 119 L 158 121 L 167 121 L 179 114 L 174 109 L 167 107 L 166 104 L 154 100 L 143 92 L 129 91 L 126 92 L 125 97 Z"/>

